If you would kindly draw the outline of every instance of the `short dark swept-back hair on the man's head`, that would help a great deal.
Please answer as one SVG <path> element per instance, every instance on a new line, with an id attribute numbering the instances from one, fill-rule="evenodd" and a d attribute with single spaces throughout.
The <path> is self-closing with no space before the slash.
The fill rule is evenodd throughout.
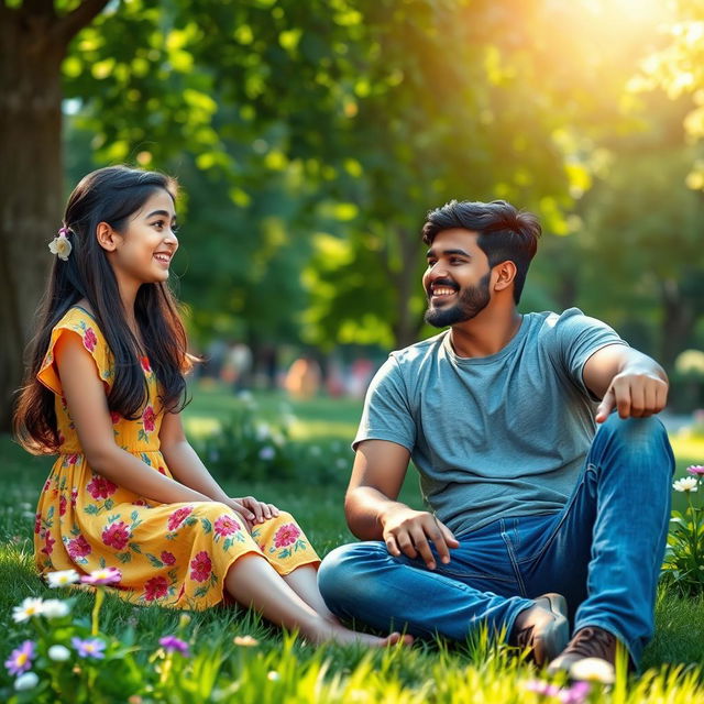
<path id="1" fill-rule="evenodd" d="M 476 243 L 486 254 L 490 267 L 506 261 L 516 264 L 514 300 L 518 304 L 542 232 L 538 218 L 531 212 L 517 210 L 505 200 L 451 200 L 428 213 L 428 221 L 422 227 L 422 241 L 432 244 L 438 232 L 455 228 L 479 234 Z"/>

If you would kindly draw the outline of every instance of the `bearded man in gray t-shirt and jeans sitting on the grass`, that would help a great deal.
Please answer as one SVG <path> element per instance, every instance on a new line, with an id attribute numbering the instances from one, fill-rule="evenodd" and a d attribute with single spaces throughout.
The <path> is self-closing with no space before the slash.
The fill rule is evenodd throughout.
<path id="1" fill-rule="evenodd" d="M 365 542 L 333 550 L 319 584 L 382 629 L 463 640 L 487 624 L 551 671 L 613 664 L 618 642 L 637 663 L 670 516 L 672 451 L 651 418 L 668 380 L 575 308 L 517 311 L 539 235 L 502 200 L 428 216 L 426 320 L 450 329 L 374 377 L 345 497 Z M 397 501 L 409 460 L 426 512 Z"/>

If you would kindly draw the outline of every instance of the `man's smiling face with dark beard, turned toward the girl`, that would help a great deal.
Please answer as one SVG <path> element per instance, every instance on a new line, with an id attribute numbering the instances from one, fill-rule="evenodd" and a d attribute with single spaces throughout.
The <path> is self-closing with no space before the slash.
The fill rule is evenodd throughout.
<path id="1" fill-rule="evenodd" d="M 428 297 L 426 322 L 444 328 L 471 320 L 491 300 L 491 268 L 470 230 L 442 230 L 428 250 L 422 277 Z"/>

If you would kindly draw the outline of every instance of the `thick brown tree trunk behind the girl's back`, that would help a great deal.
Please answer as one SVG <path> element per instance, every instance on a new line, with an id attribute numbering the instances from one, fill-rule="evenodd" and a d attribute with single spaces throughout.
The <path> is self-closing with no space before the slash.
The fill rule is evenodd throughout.
<path id="1" fill-rule="evenodd" d="M 11 426 L 23 351 L 61 227 L 62 76 L 72 37 L 107 4 L 58 18 L 53 2 L 0 4 L 0 431 Z"/>

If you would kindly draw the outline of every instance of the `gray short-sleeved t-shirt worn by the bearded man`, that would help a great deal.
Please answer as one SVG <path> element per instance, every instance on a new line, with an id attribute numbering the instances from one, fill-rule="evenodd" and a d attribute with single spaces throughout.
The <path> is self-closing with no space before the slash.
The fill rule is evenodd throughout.
<path id="1" fill-rule="evenodd" d="M 366 394 L 353 448 L 405 447 L 424 498 L 453 532 L 564 506 L 595 432 L 582 370 L 626 344 L 576 308 L 524 316 L 499 352 L 460 358 L 449 330 L 392 352 Z"/>

